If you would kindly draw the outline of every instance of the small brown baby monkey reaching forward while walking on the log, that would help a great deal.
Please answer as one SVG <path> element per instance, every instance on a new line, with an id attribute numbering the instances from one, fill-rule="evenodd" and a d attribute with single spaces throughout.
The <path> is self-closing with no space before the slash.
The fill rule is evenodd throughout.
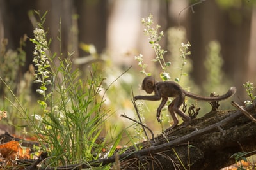
<path id="1" fill-rule="evenodd" d="M 148 101 L 159 101 L 162 98 L 161 103 L 156 111 L 156 118 L 158 122 L 161 122 L 160 115 L 161 110 L 168 101 L 168 97 L 173 97 L 172 103 L 168 105 L 168 111 L 173 118 L 173 125 L 171 128 L 175 128 L 179 124 L 179 120 L 177 118 L 177 113 L 182 120 L 184 121 L 184 127 L 187 127 L 190 122 L 191 118 L 186 115 L 183 111 L 179 110 L 180 106 L 185 101 L 185 96 L 191 97 L 193 99 L 198 99 L 201 101 L 221 101 L 231 97 L 233 94 L 236 93 L 236 87 L 230 87 L 230 89 L 221 96 L 214 96 L 214 97 L 204 97 L 198 96 L 197 94 L 193 94 L 188 92 L 182 87 L 174 82 L 174 81 L 155 81 L 154 77 L 146 76 L 142 82 L 142 90 L 145 90 L 147 94 L 152 94 L 152 96 L 135 96 L 134 101 L 136 100 L 148 100 Z"/>

